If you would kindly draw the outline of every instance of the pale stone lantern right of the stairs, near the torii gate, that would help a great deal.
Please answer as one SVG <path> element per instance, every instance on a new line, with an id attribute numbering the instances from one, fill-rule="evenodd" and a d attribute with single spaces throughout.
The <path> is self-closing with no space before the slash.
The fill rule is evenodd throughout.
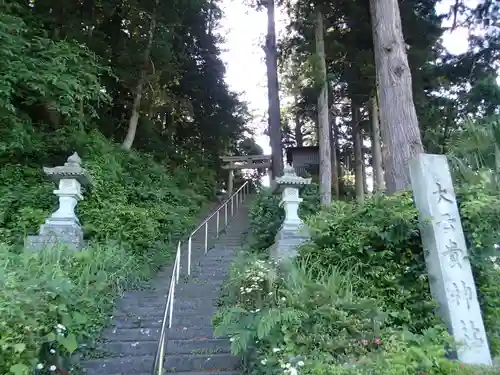
<path id="1" fill-rule="evenodd" d="M 275 182 L 282 192 L 280 205 L 285 210 L 285 219 L 276 234 L 274 244 L 271 246 L 271 258 L 275 261 L 290 259 L 297 255 L 298 247 L 309 239 L 309 233 L 299 217 L 299 188 L 311 183 L 310 178 L 302 178 L 295 174 L 292 166 L 287 165 L 284 175 Z"/>

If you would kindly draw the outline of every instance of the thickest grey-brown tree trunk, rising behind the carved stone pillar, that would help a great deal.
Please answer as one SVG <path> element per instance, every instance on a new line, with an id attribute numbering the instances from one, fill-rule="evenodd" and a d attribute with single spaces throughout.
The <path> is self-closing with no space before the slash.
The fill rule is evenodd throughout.
<path id="1" fill-rule="evenodd" d="M 397 0 L 370 0 L 389 194 L 411 187 L 408 162 L 423 152 Z"/>

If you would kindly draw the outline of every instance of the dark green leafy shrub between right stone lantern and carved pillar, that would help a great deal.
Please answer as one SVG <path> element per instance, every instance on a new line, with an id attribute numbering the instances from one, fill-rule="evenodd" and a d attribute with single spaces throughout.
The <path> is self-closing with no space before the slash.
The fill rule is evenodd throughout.
<path id="1" fill-rule="evenodd" d="M 303 255 L 316 268 L 356 270 L 354 288 L 367 297 L 385 295 L 381 307 L 393 326 L 421 331 L 436 323 L 409 194 L 376 196 L 362 206 L 334 202 L 310 225 L 313 244 Z"/>

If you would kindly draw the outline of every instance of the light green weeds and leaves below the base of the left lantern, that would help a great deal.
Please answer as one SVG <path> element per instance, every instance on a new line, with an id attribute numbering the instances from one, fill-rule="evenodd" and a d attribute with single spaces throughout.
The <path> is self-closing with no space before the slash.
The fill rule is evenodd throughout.
<path id="1" fill-rule="evenodd" d="M 2 245 L 0 264 L 0 373 L 16 375 L 38 363 L 47 373 L 68 366 L 68 356 L 100 332 L 118 293 L 151 272 L 112 244 L 21 254 Z"/>

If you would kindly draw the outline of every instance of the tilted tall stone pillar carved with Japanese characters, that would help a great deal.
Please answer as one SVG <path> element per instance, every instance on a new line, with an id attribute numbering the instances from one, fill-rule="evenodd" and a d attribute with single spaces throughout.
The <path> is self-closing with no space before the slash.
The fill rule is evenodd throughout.
<path id="1" fill-rule="evenodd" d="M 420 233 L 433 297 L 455 341 L 458 360 L 491 365 L 491 354 L 446 156 L 410 162 Z"/>

